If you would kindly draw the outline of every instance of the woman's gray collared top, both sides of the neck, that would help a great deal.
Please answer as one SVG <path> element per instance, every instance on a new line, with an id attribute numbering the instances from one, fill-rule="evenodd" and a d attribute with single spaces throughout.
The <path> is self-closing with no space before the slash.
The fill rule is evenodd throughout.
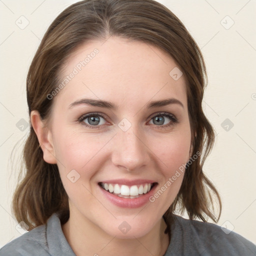
<path id="1" fill-rule="evenodd" d="M 0 255 L 75 256 L 56 213 L 46 225 L 37 226 L 4 245 Z M 218 225 L 174 215 L 171 241 L 164 256 L 179 255 L 255 256 L 256 246 L 235 232 L 224 232 Z"/>

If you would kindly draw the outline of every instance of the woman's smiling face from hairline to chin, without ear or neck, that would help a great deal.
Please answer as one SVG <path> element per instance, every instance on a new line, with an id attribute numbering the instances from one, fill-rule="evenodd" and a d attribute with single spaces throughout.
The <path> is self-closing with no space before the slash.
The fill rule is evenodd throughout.
<path id="1" fill-rule="evenodd" d="M 118 37 L 82 45 L 64 64 L 48 138 L 77 224 L 133 238 L 159 223 L 189 159 L 180 75 L 157 47 Z"/>

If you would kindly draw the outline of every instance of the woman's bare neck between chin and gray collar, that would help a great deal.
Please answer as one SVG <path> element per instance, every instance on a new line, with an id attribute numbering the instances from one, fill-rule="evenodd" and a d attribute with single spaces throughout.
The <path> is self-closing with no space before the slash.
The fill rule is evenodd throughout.
<path id="1" fill-rule="evenodd" d="M 168 245 L 168 234 L 164 233 L 166 224 L 161 218 L 144 236 L 136 238 L 117 238 L 111 236 L 87 219 L 77 221 L 70 212 L 69 219 L 62 225 L 62 231 L 76 256 L 87 255 L 144 255 L 162 256 Z"/>

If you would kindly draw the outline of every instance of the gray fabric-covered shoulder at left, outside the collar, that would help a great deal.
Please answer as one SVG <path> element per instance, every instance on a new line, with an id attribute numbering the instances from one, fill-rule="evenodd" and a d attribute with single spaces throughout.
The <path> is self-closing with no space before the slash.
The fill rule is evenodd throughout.
<path id="1" fill-rule="evenodd" d="M 0 255 L 32 256 L 36 251 L 37 255 L 48 256 L 47 250 L 46 226 L 40 225 L 4 245 Z"/>

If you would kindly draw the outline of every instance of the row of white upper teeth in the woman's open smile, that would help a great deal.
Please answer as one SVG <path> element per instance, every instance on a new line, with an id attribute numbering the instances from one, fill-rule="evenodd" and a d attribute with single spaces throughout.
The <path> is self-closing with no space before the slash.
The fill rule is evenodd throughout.
<path id="1" fill-rule="evenodd" d="M 127 185 L 101 183 L 101 187 L 104 188 L 105 190 L 108 190 L 110 193 L 120 195 L 121 197 L 124 198 L 136 198 L 143 193 L 145 194 L 149 192 L 151 185 L 152 184 L 148 183 L 144 185 L 132 185 L 129 187 Z"/>

